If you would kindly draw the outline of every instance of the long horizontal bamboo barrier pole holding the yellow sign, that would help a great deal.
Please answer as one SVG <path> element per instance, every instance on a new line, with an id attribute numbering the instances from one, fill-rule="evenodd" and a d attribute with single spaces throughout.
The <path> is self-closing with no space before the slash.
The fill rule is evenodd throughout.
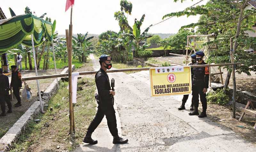
<path id="1" fill-rule="evenodd" d="M 205 67 L 205 66 L 229 66 L 229 65 L 239 65 L 238 63 L 221 63 L 221 64 L 205 64 L 205 65 L 191 65 L 191 67 Z M 115 70 L 107 70 L 107 73 L 115 73 L 115 72 L 131 72 L 131 71 L 147 71 L 148 67 L 144 68 L 131 68 L 131 69 L 115 69 Z M 98 71 L 85 71 L 79 72 L 79 75 L 88 75 L 88 74 L 96 74 Z M 56 78 L 56 77 L 67 77 L 68 73 L 64 74 L 51 74 L 51 75 L 40 75 L 33 77 L 24 77 L 21 78 L 22 81 L 36 80 L 36 79 L 48 79 L 48 78 Z"/>

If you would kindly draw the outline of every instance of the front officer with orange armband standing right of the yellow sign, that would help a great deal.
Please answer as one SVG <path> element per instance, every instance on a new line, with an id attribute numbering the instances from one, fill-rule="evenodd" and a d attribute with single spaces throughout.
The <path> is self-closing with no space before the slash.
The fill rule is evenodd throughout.
<path id="1" fill-rule="evenodd" d="M 197 63 L 195 65 L 205 65 L 206 63 L 203 60 L 204 52 L 196 52 Z M 209 67 L 194 67 L 193 68 L 193 80 L 192 80 L 192 100 L 194 100 L 195 111 L 189 113 L 189 115 L 198 115 L 199 118 L 207 117 L 207 101 L 206 101 L 206 92 L 209 85 Z M 202 103 L 203 111 L 199 115 L 198 105 L 199 105 L 199 95 L 200 101 Z"/>

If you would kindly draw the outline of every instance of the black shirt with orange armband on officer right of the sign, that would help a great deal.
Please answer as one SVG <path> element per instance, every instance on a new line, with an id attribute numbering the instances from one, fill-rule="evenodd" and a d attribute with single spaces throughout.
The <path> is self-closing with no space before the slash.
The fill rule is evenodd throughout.
<path id="1" fill-rule="evenodd" d="M 206 63 L 203 61 L 202 63 L 195 63 L 194 65 L 205 65 Z M 204 88 L 209 87 L 209 67 L 194 67 L 193 68 L 193 80 L 196 82 L 201 82 L 204 85 Z"/>

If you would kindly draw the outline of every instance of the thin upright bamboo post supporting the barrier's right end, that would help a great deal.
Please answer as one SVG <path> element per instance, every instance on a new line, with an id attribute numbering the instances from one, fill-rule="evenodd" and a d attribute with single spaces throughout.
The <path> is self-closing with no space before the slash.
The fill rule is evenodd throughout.
<path id="1" fill-rule="evenodd" d="M 234 63 L 233 56 L 233 39 L 230 38 L 230 59 L 231 63 Z M 236 73 L 235 73 L 235 65 L 232 65 L 232 78 L 233 78 L 233 118 L 236 118 Z"/>

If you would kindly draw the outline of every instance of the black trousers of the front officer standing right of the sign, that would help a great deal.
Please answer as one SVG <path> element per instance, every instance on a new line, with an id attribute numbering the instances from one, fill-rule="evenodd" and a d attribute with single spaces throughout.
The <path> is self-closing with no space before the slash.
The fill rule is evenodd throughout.
<path id="1" fill-rule="evenodd" d="M 194 107 L 195 109 L 198 109 L 199 95 L 200 95 L 200 101 L 202 103 L 203 112 L 206 112 L 206 109 L 207 109 L 206 93 L 204 93 L 203 90 L 204 90 L 204 82 L 192 81 L 192 100 L 194 101 Z"/>

